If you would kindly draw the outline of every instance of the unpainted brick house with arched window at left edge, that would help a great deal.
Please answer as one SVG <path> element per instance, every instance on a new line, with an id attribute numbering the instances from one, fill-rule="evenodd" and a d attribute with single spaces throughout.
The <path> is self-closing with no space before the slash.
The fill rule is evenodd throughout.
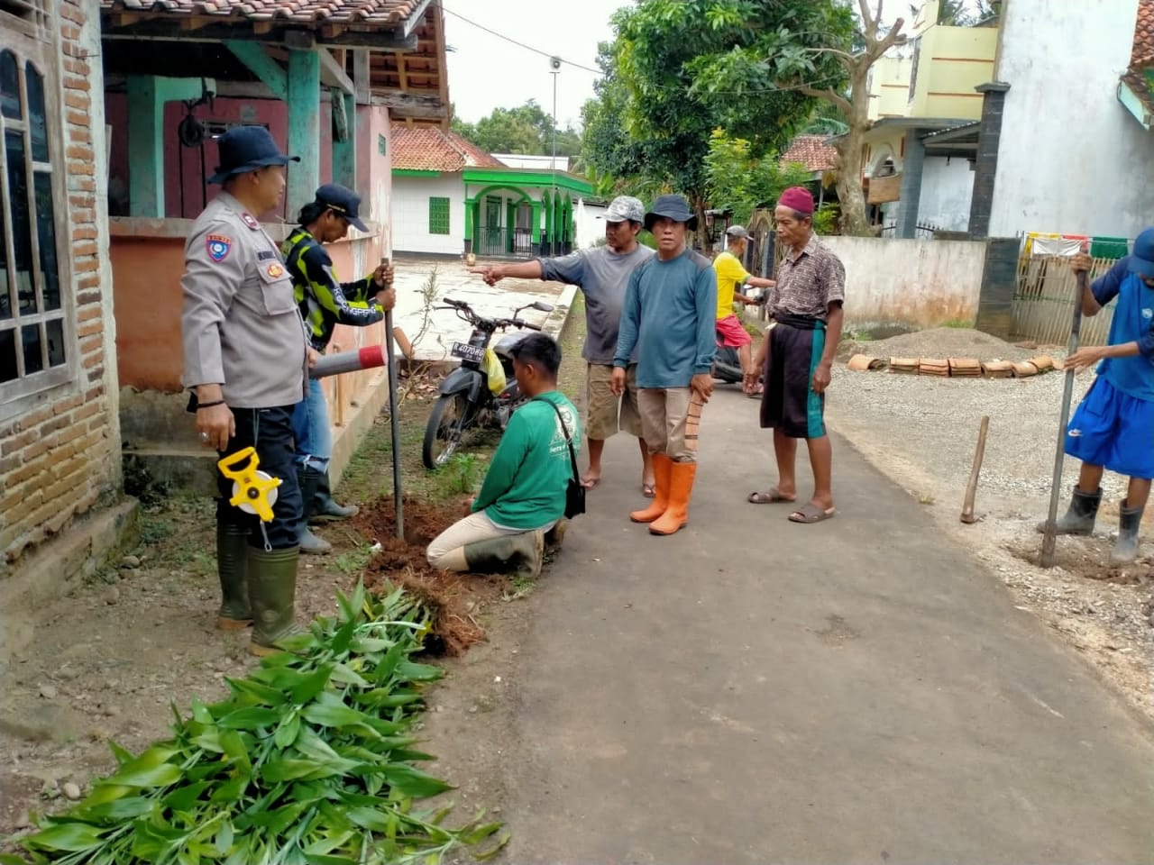
<path id="1" fill-rule="evenodd" d="M 120 502 L 99 52 L 97 0 L 0 0 L 5 577 L 61 534 L 67 549 L 48 565 L 75 570 L 130 511 Z"/>

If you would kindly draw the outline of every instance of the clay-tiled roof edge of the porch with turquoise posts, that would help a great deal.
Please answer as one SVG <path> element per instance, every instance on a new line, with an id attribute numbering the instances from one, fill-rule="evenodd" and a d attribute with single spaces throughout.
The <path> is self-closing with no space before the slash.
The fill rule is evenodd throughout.
<path id="1" fill-rule="evenodd" d="M 104 12 L 382 28 L 407 21 L 422 6 L 422 0 L 100 0 Z"/>

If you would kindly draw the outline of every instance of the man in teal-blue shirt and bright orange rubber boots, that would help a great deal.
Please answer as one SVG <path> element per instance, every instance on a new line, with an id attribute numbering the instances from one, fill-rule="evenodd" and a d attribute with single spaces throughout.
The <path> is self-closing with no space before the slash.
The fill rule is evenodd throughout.
<path id="1" fill-rule="evenodd" d="M 657 255 L 629 277 L 613 356 L 610 386 L 620 396 L 637 349 L 637 404 L 657 489 L 653 503 L 629 519 L 647 522 L 655 535 L 672 535 L 689 521 L 697 429 L 713 392 L 718 283 L 710 260 L 685 245 L 696 226 L 680 195 L 660 196 L 645 215 Z"/>

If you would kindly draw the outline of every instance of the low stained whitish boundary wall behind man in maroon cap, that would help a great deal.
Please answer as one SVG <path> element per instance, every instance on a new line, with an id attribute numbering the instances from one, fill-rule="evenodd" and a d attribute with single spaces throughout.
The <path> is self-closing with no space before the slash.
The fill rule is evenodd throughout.
<path id="1" fill-rule="evenodd" d="M 986 245 L 823 236 L 846 268 L 846 329 L 938 328 L 977 318 Z"/>

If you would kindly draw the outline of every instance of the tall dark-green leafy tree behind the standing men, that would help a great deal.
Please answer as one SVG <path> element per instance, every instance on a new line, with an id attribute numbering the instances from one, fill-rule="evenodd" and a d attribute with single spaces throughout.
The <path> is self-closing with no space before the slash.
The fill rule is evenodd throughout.
<path id="1" fill-rule="evenodd" d="M 638 0 L 613 23 L 598 105 L 585 118 L 586 160 L 635 186 L 683 193 L 702 232 L 713 130 L 748 141 L 758 157 L 784 150 L 812 113 L 811 95 L 775 84 L 763 59 L 786 52 L 840 85 L 845 73 L 817 50 L 853 30 L 838 0 Z"/>

